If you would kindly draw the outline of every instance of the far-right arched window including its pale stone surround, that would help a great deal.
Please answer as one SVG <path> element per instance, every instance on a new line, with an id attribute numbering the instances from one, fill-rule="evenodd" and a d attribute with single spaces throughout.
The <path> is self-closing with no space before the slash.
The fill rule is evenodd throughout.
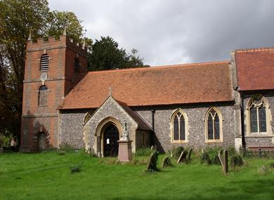
<path id="1" fill-rule="evenodd" d="M 254 95 L 247 103 L 247 134 L 271 133 L 270 109 L 263 95 Z"/>

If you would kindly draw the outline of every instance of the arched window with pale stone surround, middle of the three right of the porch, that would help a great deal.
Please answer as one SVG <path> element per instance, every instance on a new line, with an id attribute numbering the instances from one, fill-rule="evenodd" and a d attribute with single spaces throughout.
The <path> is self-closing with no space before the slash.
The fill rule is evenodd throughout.
<path id="1" fill-rule="evenodd" d="M 221 112 L 216 107 L 208 109 L 204 120 L 206 142 L 223 141 L 223 119 Z"/>

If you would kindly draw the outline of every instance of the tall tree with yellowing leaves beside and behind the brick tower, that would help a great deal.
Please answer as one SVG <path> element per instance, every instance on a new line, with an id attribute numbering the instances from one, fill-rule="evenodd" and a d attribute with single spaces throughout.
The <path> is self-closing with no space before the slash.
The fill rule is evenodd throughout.
<path id="1" fill-rule="evenodd" d="M 26 41 L 67 35 L 82 41 L 81 20 L 72 12 L 51 12 L 46 0 L 0 1 L 0 133 L 20 135 Z M 91 44 L 91 39 L 86 39 Z"/>

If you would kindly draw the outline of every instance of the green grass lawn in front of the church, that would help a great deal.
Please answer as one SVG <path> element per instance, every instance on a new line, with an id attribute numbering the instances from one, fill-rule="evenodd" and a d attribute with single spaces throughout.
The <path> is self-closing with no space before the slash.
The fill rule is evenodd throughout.
<path id="1" fill-rule="evenodd" d="M 246 159 L 228 175 L 195 160 L 157 173 L 112 160 L 81 152 L 0 154 L 0 199 L 274 199 L 274 170 L 258 172 L 273 159 Z M 70 173 L 80 163 L 82 171 Z"/>

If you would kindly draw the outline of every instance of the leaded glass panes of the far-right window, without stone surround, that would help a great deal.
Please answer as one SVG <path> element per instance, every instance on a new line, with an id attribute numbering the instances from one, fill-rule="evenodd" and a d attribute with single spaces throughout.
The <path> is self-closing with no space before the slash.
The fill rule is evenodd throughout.
<path id="1" fill-rule="evenodd" d="M 266 105 L 262 96 L 253 97 L 248 110 L 251 133 L 266 133 Z"/>

